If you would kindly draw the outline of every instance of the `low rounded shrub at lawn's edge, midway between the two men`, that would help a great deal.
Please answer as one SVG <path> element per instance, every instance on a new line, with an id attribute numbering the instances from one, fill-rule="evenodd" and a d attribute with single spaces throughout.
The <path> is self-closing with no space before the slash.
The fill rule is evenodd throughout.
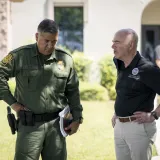
<path id="1" fill-rule="evenodd" d="M 99 84 L 92 84 L 87 82 L 80 82 L 80 97 L 81 100 L 86 101 L 107 101 L 108 91 Z"/>

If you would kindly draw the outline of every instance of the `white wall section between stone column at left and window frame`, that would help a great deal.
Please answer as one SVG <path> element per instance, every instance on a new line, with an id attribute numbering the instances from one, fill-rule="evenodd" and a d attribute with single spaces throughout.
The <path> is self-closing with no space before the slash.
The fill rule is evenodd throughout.
<path id="1" fill-rule="evenodd" d="M 44 18 L 45 0 L 11 3 L 12 49 L 34 40 L 39 22 Z"/>

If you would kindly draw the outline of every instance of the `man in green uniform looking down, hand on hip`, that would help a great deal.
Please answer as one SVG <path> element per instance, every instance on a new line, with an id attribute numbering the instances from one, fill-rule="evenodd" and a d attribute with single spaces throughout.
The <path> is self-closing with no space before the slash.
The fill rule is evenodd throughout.
<path id="1" fill-rule="evenodd" d="M 55 48 L 58 27 L 45 19 L 35 35 L 36 44 L 10 52 L 0 63 L 0 99 L 19 116 L 15 160 L 66 160 L 66 142 L 58 113 L 69 105 L 74 134 L 82 120 L 79 82 L 72 57 Z M 7 80 L 16 79 L 15 96 Z"/>

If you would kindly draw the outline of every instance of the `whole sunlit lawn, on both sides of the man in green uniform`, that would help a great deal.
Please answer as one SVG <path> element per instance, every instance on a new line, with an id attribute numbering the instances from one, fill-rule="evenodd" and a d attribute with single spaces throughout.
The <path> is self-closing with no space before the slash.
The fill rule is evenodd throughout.
<path id="1" fill-rule="evenodd" d="M 82 104 L 84 123 L 75 135 L 67 137 L 68 160 L 115 160 L 111 126 L 114 102 Z M 16 136 L 11 135 L 5 106 L 0 101 L 0 160 L 13 160 Z"/>

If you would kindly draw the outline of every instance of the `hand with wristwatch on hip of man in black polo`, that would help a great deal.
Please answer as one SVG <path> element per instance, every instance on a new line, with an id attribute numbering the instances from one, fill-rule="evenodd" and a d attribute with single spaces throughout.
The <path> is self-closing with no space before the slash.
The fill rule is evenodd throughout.
<path id="1" fill-rule="evenodd" d="M 138 122 L 139 124 L 151 123 L 155 120 L 151 113 L 148 112 L 134 112 L 134 117 L 136 117 L 134 122 Z"/>

